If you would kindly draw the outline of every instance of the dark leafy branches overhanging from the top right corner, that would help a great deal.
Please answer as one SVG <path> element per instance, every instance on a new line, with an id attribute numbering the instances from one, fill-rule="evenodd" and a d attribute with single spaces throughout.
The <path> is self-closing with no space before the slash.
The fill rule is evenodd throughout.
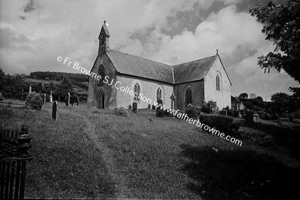
<path id="1" fill-rule="evenodd" d="M 258 4 L 250 8 L 251 16 L 265 24 L 261 32 L 266 33 L 267 40 L 274 41 L 275 49 L 281 52 L 269 52 L 258 57 L 258 65 L 264 72 L 270 68 L 280 72 L 283 69 L 296 81 L 300 81 L 300 4 L 299 0 L 289 0 L 286 5 L 270 1 L 266 6 Z"/>

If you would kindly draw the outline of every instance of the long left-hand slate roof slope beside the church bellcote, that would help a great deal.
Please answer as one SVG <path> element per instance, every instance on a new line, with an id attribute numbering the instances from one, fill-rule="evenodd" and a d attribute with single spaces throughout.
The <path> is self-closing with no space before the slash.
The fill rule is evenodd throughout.
<path id="1" fill-rule="evenodd" d="M 107 53 L 119 73 L 174 83 L 172 66 L 109 49 Z"/>

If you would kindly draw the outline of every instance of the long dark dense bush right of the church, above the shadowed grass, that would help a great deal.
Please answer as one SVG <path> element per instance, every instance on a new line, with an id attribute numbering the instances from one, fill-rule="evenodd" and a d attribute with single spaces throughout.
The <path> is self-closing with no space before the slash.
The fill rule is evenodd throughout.
<path id="1" fill-rule="evenodd" d="M 234 120 L 231 116 L 216 115 L 216 114 L 200 114 L 199 121 L 210 127 L 216 128 L 218 131 L 227 135 L 237 133 L 241 123 Z M 204 126 L 202 126 L 203 128 Z"/>

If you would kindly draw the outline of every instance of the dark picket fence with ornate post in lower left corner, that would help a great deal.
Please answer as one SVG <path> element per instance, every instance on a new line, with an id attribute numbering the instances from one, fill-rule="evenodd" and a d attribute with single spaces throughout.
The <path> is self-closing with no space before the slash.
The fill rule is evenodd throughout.
<path id="1" fill-rule="evenodd" d="M 0 199 L 23 199 L 26 163 L 32 146 L 26 125 L 21 131 L 0 129 Z"/>

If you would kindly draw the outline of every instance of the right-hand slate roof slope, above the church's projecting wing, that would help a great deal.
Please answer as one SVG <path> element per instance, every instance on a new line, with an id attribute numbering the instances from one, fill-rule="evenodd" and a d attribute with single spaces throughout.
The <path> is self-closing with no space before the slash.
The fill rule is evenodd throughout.
<path id="1" fill-rule="evenodd" d="M 173 66 L 175 83 L 203 79 L 217 55 Z"/>

